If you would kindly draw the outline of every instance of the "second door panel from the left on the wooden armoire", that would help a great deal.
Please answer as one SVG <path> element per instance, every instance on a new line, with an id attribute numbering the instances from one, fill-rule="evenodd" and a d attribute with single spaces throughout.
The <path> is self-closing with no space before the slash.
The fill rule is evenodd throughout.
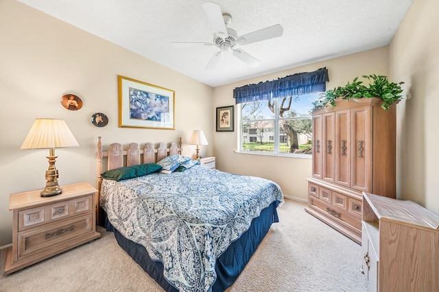
<path id="1" fill-rule="evenodd" d="M 334 181 L 335 177 L 335 115 L 322 114 L 322 178 L 325 181 Z"/>

